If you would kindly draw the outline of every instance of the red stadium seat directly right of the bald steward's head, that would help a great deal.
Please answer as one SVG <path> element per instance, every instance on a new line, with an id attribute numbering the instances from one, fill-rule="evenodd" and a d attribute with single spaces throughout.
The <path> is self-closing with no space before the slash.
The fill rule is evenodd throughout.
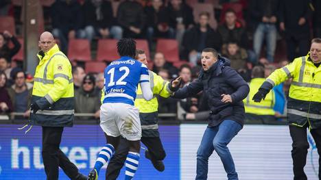
<path id="1" fill-rule="evenodd" d="M 68 44 L 68 57 L 72 61 L 90 61 L 91 46 L 86 39 L 71 39 Z"/>

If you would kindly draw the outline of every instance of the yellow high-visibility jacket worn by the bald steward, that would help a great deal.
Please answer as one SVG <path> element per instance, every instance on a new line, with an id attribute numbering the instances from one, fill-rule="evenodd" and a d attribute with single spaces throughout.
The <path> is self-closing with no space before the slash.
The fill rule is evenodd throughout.
<path id="1" fill-rule="evenodd" d="M 71 64 L 57 44 L 38 58 L 32 103 L 36 102 L 40 110 L 30 113 L 32 125 L 71 127 L 74 115 Z"/>

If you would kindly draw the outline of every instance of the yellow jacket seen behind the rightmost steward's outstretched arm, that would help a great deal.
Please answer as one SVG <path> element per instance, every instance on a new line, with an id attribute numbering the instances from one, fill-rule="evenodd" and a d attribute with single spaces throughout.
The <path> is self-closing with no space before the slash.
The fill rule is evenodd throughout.
<path id="1" fill-rule="evenodd" d="M 275 94 L 274 90 L 271 90 L 260 103 L 254 102 L 252 98 L 254 94 L 257 93 L 261 84 L 265 81 L 264 78 L 254 78 L 250 81 L 250 92 L 248 97 L 243 99 L 244 108 L 246 113 L 257 114 L 257 115 L 272 115 L 274 116 L 275 112 L 273 110 L 275 104 Z"/>

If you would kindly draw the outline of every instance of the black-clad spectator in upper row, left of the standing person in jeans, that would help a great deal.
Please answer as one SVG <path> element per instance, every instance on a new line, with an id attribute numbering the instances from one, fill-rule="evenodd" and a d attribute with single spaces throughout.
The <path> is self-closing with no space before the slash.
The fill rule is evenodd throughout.
<path id="1" fill-rule="evenodd" d="M 236 41 L 240 47 L 248 48 L 248 37 L 246 31 L 237 21 L 236 12 L 232 9 L 228 9 L 225 12 L 225 22 L 217 27 L 217 31 L 222 37 L 223 49 L 224 46 L 231 40 Z"/>

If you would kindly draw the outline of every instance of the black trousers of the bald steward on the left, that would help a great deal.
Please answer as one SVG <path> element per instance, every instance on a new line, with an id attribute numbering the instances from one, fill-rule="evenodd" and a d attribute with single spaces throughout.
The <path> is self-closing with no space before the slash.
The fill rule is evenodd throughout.
<path id="1" fill-rule="evenodd" d="M 63 127 L 43 127 L 43 164 L 47 180 L 58 179 L 59 167 L 70 179 L 77 179 L 78 168 L 60 150 Z"/>

